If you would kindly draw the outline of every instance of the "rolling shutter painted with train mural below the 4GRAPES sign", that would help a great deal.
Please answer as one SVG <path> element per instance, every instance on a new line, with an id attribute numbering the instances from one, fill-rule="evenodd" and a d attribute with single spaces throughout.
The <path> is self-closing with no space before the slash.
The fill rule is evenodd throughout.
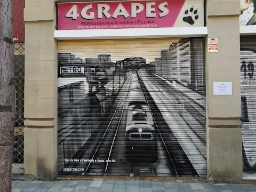
<path id="1" fill-rule="evenodd" d="M 203 38 L 58 50 L 59 174 L 206 176 Z"/>

